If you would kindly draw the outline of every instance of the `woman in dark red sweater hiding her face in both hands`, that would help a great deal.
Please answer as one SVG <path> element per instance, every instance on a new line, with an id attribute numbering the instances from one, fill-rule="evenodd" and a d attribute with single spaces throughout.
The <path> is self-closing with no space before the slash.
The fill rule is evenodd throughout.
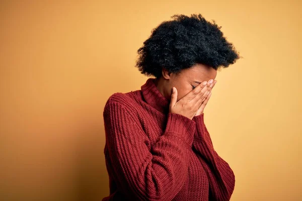
<path id="1" fill-rule="evenodd" d="M 203 110 L 219 67 L 239 54 L 200 14 L 172 16 L 138 49 L 153 75 L 104 108 L 110 195 L 103 200 L 230 200 L 231 167 L 213 148 Z"/>

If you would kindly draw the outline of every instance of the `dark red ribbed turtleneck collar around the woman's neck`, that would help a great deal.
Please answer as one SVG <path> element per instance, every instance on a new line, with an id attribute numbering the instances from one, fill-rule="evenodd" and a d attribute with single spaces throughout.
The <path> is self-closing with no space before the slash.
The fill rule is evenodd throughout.
<path id="1" fill-rule="evenodd" d="M 148 78 L 140 87 L 145 102 L 161 113 L 169 113 L 170 100 L 168 100 L 157 88 L 156 78 Z"/>

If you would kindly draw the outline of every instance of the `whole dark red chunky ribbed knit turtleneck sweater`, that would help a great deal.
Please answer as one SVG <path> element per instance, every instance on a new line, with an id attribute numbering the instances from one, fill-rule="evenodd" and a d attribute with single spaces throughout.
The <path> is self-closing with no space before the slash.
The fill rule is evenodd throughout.
<path id="1" fill-rule="evenodd" d="M 106 102 L 110 195 L 102 200 L 230 200 L 235 175 L 214 150 L 204 114 L 169 113 L 154 80 Z"/>

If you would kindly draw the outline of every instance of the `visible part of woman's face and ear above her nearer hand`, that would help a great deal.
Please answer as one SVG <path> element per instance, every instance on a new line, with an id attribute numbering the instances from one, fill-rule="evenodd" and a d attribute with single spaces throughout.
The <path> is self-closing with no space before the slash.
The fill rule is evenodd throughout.
<path id="1" fill-rule="evenodd" d="M 217 75 L 217 70 L 212 67 L 195 64 L 190 68 L 183 69 L 181 72 L 175 74 L 170 73 L 163 69 L 163 93 L 169 100 L 171 99 L 172 87 L 177 89 L 177 101 L 188 94 L 194 87 L 203 81 L 208 81 L 209 79 L 215 79 Z"/>

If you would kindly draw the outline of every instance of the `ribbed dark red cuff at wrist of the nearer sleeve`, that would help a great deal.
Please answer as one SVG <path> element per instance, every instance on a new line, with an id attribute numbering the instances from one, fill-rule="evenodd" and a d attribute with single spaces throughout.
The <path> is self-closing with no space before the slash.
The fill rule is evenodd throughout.
<path id="1" fill-rule="evenodd" d="M 196 123 L 177 113 L 168 113 L 168 121 L 166 126 L 166 133 L 177 133 L 182 136 L 186 143 L 192 146 Z"/>

